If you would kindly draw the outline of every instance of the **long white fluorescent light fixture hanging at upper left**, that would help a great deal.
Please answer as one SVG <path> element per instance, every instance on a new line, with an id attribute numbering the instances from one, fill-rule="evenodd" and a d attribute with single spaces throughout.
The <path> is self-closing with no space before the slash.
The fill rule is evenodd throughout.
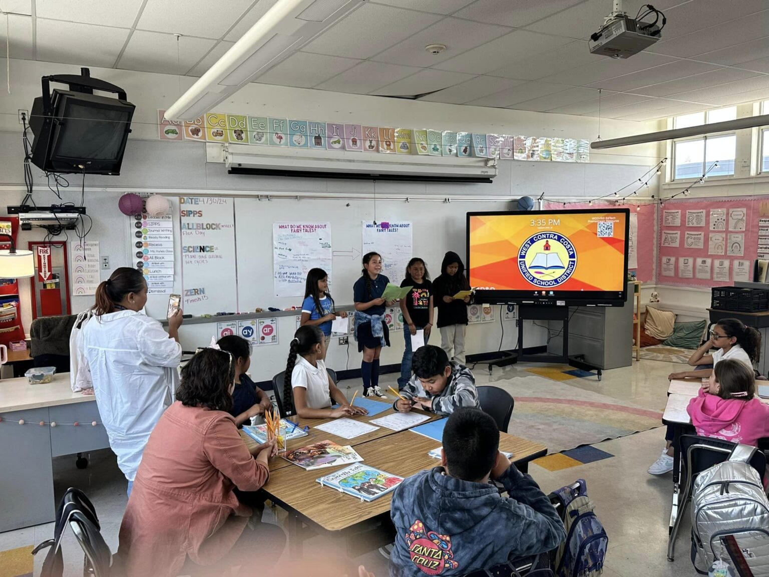
<path id="1" fill-rule="evenodd" d="M 165 111 L 195 120 L 254 82 L 365 0 L 278 0 L 187 92 Z"/>

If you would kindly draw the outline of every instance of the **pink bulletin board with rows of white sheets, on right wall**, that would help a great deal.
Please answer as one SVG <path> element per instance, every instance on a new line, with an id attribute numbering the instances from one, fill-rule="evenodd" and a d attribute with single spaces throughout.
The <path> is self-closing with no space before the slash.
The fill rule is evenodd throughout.
<path id="1" fill-rule="evenodd" d="M 761 205 L 764 205 L 764 209 L 769 208 L 767 201 L 769 197 L 742 196 L 676 198 L 664 202 L 658 208 L 657 284 L 689 287 L 731 286 L 734 285 L 737 261 L 748 262 L 750 278 L 747 280 L 753 280 Z M 680 222 L 677 217 L 680 217 Z M 702 248 L 698 247 L 700 238 Z M 740 242 L 741 251 L 738 246 Z M 694 259 L 690 261 L 693 267 L 691 278 L 681 276 L 686 270 L 682 268 L 682 259 L 685 258 Z M 708 278 L 697 278 L 698 273 L 705 276 L 708 265 L 703 261 L 708 258 L 711 259 Z M 721 277 L 716 278 L 717 262 L 720 261 L 728 262 L 728 274 L 725 266 L 720 266 Z"/>

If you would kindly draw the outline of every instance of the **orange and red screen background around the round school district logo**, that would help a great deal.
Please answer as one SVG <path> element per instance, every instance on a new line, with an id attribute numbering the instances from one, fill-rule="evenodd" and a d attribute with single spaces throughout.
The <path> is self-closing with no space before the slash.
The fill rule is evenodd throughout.
<path id="1" fill-rule="evenodd" d="M 614 237 L 598 238 L 594 218 L 614 218 Z M 532 220 L 559 219 L 557 226 L 531 226 Z M 521 245 L 537 232 L 558 232 L 577 252 L 574 273 L 558 291 L 622 291 L 625 283 L 624 251 L 626 213 L 554 213 L 486 215 L 470 217 L 470 282 L 474 287 L 534 291 L 518 269 Z"/>

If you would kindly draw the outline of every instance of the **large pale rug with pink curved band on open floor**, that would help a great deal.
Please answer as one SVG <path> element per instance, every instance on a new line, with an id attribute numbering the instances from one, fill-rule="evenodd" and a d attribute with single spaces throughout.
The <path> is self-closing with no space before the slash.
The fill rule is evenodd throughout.
<path id="1" fill-rule="evenodd" d="M 548 453 L 593 445 L 661 426 L 662 413 L 537 375 L 490 383 L 515 399 L 508 432 Z"/>

